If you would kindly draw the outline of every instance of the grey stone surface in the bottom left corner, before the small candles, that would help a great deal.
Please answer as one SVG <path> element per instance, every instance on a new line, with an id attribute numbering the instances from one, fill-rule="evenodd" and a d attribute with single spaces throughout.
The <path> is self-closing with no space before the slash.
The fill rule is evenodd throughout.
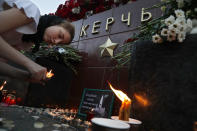
<path id="1" fill-rule="evenodd" d="M 33 117 L 32 117 L 33 116 Z M 35 117 L 36 116 L 36 117 Z M 77 131 L 75 127 L 44 114 L 27 112 L 24 107 L 0 106 L 0 131 Z"/>

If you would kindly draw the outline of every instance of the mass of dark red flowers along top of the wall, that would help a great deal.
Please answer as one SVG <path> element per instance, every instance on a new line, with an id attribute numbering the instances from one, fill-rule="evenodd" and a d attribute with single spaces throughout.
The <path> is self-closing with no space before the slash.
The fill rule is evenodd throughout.
<path id="1" fill-rule="evenodd" d="M 54 14 L 51 14 L 76 21 L 131 1 L 136 0 L 68 0 L 59 5 Z"/>

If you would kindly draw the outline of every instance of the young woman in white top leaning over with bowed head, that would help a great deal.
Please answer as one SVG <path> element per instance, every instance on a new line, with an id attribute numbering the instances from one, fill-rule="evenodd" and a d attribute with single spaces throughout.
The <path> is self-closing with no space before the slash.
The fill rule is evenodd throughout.
<path id="1" fill-rule="evenodd" d="M 28 73 L 6 66 L 1 61 L 0 73 L 3 75 L 16 78 L 22 76 L 24 79 L 29 76 L 34 82 L 46 80 L 46 68 L 18 50 L 28 49 L 32 44 L 38 45 L 42 41 L 49 44 L 69 44 L 73 37 L 74 27 L 70 23 L 57 16 L 40 17 L 39 9 L 29 0 L 0 1 L 0 57 L 22 65 L 29 71 Z"/>

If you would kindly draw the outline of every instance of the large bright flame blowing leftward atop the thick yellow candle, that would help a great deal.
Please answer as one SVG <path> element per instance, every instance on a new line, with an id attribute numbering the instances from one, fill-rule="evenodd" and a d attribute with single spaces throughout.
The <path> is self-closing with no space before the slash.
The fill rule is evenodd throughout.
<path id="1" fill-rule="evenodd" d="M 116 96 L 123 102 L 123 101 L 131 101 L 131 99 L 123 93 L 121 90 L 116 90 L 112 87 L 112 85 L 108 82 L 111 90 L 116 94 Z"/>

